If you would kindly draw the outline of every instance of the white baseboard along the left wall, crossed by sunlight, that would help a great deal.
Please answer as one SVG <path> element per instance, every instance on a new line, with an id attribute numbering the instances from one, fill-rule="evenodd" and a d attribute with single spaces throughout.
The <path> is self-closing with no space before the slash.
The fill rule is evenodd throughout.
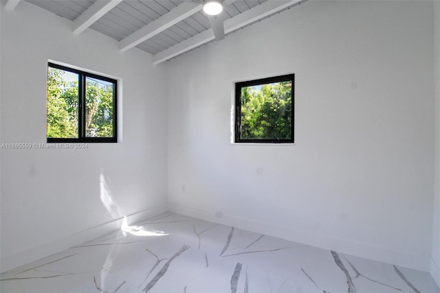
<path id="1" fill-rule="evenodd" d="M 159 215 L 160 213 L 164 213 L 166 211 L 166 206 L 155 207 L 133 213 L 132 215 L 127 215 L 126 218 L 129 224 L 133 224 L 136 222 L 140 222 L 141 220 L 154 217 L 155 215 Z M 47 257 L 48 255 L 58 253 L 67 248 L 82 244 L 96 237 L 114 232 L 122 226 L 122 220 L 123 218 L 115 219 L 111 222 L 100 224 L 98 226 L 88 228 L 87 230 L 80 231 L 79 233 L 69 235 L 68 237 L 56 239 L 52 242 L 47 242 L 28 250 L 14 253 L 13 255 L 8 255 L 5 257 L 2 256 L 0 272 L 12 270 L 13 268 L 22 266 L 25 263 L 36 261 L 37 259 L 41 259 L 42 257 Z"/>

